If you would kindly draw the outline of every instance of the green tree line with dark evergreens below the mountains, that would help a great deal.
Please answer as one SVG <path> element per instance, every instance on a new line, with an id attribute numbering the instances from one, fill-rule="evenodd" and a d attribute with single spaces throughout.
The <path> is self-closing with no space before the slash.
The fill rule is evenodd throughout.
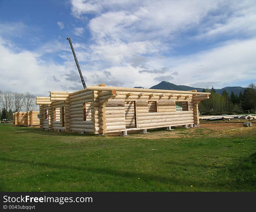
<path id="1" fill-rule="evenodd" d="M 256 113 L 256 85 L 251 83 L 239 96 L 231 91 L 229 95 L 226 90 L 217 94 L 214 87 L 203 89 L 202 92 L 210 92 L 210 98 L 198 104 L 201 114 L 238 114 Z"/>

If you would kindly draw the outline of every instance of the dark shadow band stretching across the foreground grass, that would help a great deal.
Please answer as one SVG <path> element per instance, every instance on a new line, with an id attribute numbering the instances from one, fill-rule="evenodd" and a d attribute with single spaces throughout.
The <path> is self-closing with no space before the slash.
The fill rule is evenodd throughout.
<path id="1" fill-rule="evenodd" d="M 156 182 L 156 183 L 164 183 L 164 184 L 175 184 L 176 186 L 180 185 L 194 185 L 198 188 L 205 189 L 207 191 L 256 191 L 256 164 L 255 159 L 256 153 L 252 154 L 248 159 L 242 161 L 240 164 L 232 164 L 230 166 L 225 166 L 225 169 L 219 169 L 219 176 L 221 178 L 210 179 L 205 182 L 201 180 L 189 179 L 189 176 L 182 177 L 180 174 L 176 176 L 175 172 L 170 172 L 170 176 L 163 176 L 161 173 L 156 173 L 155 175 L 146 174 L 141 172 L 132 172 L 132 171 L 118 171 L 111 168 L 100 168 L 100 167 L 88 167 L 88 166 L 73 166 L 67 164 L 54 164 L 54 163 L 46 163 L 46 162 L 37 162 L 35 166 L 56 168 L 62 170 L 77 170 L 79 172 L 91 172 L 100 175 L 109 175 L 113 177 L 125 177 L 129 179 L 137 178 L 138 176 L 144 182 Z M 19 163 L 19 164 L 29 164 L 30 166 L 34 165 L 25 160 L 17 160 L 17 159 L 8 159 L 8 158 L 0 158 L 1 161 Z M 176 164 L 176 163 L 175 163 Z M 173 164 L 172 164 L 173 165 Z M 184 164 L 179 164 L 182 167 Z M 186 165 L 185 165 L 186 166 Z M 188 164 L 188 166 L 195 167 L 205 167 L 205 165 L 199 164 Z M 248 177 L 248 175 L 251 175 Z M 181 176 L 181 177 L 180 177 Z M 180 177 L 180 178 L 179 178 Z M 81 179 L 82 180 L 82 179 Z"/>

